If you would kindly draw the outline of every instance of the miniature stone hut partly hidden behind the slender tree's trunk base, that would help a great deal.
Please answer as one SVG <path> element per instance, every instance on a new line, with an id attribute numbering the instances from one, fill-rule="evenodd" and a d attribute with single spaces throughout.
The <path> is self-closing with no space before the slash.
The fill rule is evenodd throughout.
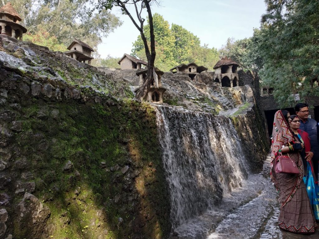
<path id="1" fill-rule="evenodd" d="M 162 86 L 161 76 L 164 75 L 164 72 L 159 70 L 157 67 L 155 67 L 154 70 L 158 78 L 158 88 L 155 85 L 155 82 L 153 79 L 151 83 L 150 91 L 147 92 L 147 95 L 145 97 L 145 101 L 163 103 L 163 93 L 166 91 L 166 88 Z M 146 80 L 146 73 L 147 73 L 147 68 L 137 71 L 136 75 L 139 77 L 139 83 L 138 83 L 138 88 L 134 92 L 139 91 L 139 89 L 143 86 Z"/>

